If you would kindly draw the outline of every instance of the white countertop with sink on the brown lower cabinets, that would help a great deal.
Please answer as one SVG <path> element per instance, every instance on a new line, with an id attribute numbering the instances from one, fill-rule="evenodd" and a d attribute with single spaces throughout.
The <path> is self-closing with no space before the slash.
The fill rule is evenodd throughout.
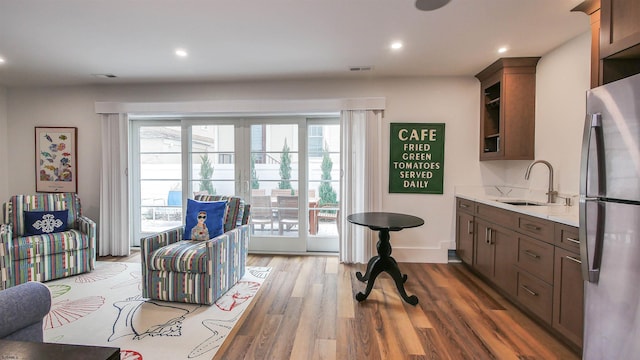
<path id="1" fill-rule="evenodd" d="M 561 204 L 552 205 L 510 205 L 501 201 L 527 200 L 533 202 L 545 202 L 545 198 L 541 200 L 540 194 L 526 189 L 517 189 L 510 187 L 500 187 L 500 190 L 494 190 L 494 187 L 460 187 L 456 188 L 456 197 L 472 200 L 486 205 L 495 206 L 501 209 L 515 211 L 521 214 L 539 217 L 570 226 L 579 226 L 578 201 L 577 196 L 573 199 L 572 206 Z M 509 189 L 511 191 L 504 191 Z M 516 190 L 516 191 L 513 191 Z M 502 191 L 502 193 L 499 193 Z M 563 199 L 558 199 L 564 201 Z"/>

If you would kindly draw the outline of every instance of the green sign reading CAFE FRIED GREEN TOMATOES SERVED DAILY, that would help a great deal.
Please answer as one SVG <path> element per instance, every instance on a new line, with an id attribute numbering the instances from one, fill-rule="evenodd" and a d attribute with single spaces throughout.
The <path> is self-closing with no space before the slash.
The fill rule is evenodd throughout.
<path id="1" fill-rule="evenodd" d="M 444 124 L 391 123 L 389 192 L 442 194 Z"/>

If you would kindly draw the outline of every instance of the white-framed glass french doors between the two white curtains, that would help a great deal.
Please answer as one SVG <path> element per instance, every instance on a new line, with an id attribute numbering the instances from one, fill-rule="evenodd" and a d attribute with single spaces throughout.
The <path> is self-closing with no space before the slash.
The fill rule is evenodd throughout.
<path id="1" fill-rule="evenodd" d="M 251 204 L 252 252 L 337 252 L 337 117 L 133 124 L 136 241 L 181 225 L 186 199 L 206 193 Z"/>

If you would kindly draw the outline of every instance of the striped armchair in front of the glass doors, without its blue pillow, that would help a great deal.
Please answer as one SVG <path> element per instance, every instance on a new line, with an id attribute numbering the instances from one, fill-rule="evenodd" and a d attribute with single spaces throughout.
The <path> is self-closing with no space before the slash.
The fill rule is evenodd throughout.
<path id="1" fill-rule="evenodd" d="M 211 305 L 244 275 L 250 205 L 229 196 L 196 195 L 195 200 L 227 200 L 224 233 L 206 241 L 183 240 L 180 226 L 142 238 L 143 297 Z"/>

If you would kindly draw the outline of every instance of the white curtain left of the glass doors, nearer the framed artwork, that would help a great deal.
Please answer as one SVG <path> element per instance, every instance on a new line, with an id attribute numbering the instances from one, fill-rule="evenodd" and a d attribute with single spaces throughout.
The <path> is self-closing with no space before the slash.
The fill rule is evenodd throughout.
<path id="1" fill-rule="evenodd" d="M 98 255 L 129 255 L 129 118 L 101 114 L 102 170 Z"/>

